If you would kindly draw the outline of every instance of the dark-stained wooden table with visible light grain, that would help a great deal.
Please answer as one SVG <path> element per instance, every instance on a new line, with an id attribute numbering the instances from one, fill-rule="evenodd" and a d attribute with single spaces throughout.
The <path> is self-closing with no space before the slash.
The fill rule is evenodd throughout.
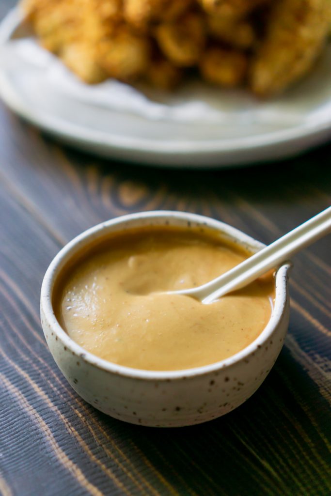
<path id="1" fill-rule="evenodd" d="M 136 427 L 81 400 L 46 346 L 39 292 L 68 240 L 128 212 L 198 212 L 270 243 L 330 205 L 331 145 L 189 172 L 75 152 L 3 105 L 0 129 L 0 493 L 330 495 L 330 238 L 295 257 L 288 336 L 262 387 L 197 427 Z"/>

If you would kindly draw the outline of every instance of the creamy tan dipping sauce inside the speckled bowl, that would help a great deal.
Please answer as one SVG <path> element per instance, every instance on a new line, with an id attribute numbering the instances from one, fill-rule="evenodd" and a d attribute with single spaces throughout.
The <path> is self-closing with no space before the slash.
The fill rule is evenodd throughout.
<path id="1" fill-rule="evenodd" d="M 85 350 L 135 369 L 173 371 L 234 355 L 265 328 L 272 277 L 203 305 L 165 291 L 204 284 L 250 256 L 208 230 L 148 227 L 114 234 L 63 270 L 53 306 Z"/>

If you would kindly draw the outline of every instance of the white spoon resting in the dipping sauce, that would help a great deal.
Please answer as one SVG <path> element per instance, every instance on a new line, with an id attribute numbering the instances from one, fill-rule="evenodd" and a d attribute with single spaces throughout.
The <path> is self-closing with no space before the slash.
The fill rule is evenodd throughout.
<path id="1" fill-rule="evenodd" d="M 247 286 L 268 270 L 277 268 L 311 243 L 331 233 L 331 207 L 285 234 L 233 269 L 197 288 L 170 291 L 168 294 L 187 295 L 208 304 L 221 296 Z"/>

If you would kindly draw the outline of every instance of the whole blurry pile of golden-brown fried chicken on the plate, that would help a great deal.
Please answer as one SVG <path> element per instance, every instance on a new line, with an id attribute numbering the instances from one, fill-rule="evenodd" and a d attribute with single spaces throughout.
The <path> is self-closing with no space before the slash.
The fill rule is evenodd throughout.
<path id="1" fill-rule="evenodd" d="M 312 68 L 331 25 L 331 0 L 24 0 L 22 6 L 40 43 L 87 83 L 142 79 L 169 89 L 185 67 L 198 67 L 214 84 L 249 80 L 262 97 Z"/>

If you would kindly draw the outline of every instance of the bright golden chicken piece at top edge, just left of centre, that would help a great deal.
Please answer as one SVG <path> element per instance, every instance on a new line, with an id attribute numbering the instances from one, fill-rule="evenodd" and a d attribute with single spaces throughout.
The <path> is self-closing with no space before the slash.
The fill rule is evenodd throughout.
<path id="1" fill-rule="evenodd" d="M 130 25 L 146 31 L 151 24 L 177 19 L 192 3 L 193 0 L 123 0 L 123 11 Z"/>

